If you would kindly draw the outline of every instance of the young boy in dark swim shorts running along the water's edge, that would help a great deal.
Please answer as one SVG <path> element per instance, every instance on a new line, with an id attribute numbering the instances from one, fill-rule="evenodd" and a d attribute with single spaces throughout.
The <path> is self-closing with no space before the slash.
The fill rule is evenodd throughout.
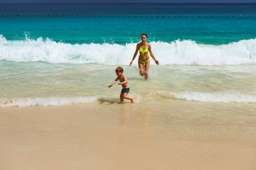
<path id="1" fill-rule="evenodd" d="M 116 74 L 117 74 L 117 79 L 115 79 L 112 84 L 110 84 L 109 88 L 111 86 L 113 86 L 118 80 L 120 81 L 118 85 L 122 85 L 122 91 L 120 94 L 120 101 L 123 102 L 124 98 L 131 100 L 132 103 L 134 103 L 134 98 L 131 98 L 128 95 L 129 93 L 129 86 L 128 86 L 128 81 L 127 81 L 127 77 L 124 76 L 123 72 L 124 69 L 122 69 L 122 67 L 117 67 L 117 69 L 115 70 Z"/>

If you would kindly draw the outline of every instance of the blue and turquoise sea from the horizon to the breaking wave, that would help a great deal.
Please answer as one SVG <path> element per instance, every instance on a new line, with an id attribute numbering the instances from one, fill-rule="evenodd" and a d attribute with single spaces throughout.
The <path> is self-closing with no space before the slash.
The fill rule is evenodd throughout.
<path id="1" fill-rule="evenodd" d="M 0 33 L 7 40 L 28 35 L 71 44 L 126 44 L 147 33 L 149 42 L 180 39 L 222 45 L 256 37 L 255 8 L 256 4 L 1 4 Z"/>

